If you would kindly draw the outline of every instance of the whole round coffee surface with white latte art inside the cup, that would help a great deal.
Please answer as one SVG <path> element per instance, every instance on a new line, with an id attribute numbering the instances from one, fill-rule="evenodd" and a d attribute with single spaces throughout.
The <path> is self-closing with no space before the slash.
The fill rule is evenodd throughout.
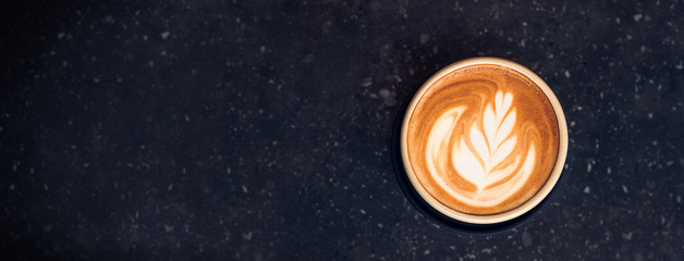
<path id="1" fill-rule="evenodd" d="M 543 91 L 500 65 L 466 66 L 419 98 L 408 123 L 411 167 L 442 204 L 496 214 L 529 200 L 555 164 L 558 120 Z"/>

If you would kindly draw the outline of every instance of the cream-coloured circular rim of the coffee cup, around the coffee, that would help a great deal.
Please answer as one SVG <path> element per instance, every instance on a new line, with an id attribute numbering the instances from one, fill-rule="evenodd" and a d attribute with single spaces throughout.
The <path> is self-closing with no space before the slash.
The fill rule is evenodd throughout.
<path id="1" fill-rule="evenodd" d="M 509 210 L 502 213 L 497 213 L 497 214 L 488 214 L 488 215 L 475 215 L 475 214 L 467 214 L 467 213 L 459 212 L 439 202 L 437 199 L 435 199 L 429 192 L 427 192 L 427 190 L 423 187 L 423 185 L 420 185 L 415 173 L 413 172 L 411 161 L 408 160 L 408 150 L 406 148 L 407 147 L 406 136 L 408 133 L 408 124 L 411 121 L 411 116 L 413 115 L 414 109 L 418 104 L 418 101 L 425 95 L 425 92 L 430 88 L 430 86 L 432 86 L 435 82 L 437 82 L 438 79 L 442 78 L 443 76 L 445 76 L 447 74 L 451 72 L 454 72 L 456 70 L 460 70 L 466 66 L 480 65 L 480 64 L 481 65 L 492 64 L 492 65 L 500 65 L 500 66 L 509 67 L 511 70 L 514 70 L 525 75 L 533 83 L 535 83 L 543 91 L 547 99 L 549 99 L 549 102 L 551 102 L 551 105 L 553 108 L 553 111 L 555 113 L 555 117 L 558 121 L 558 127 L 559 127 L 559 148 L 558 148 L 558 156 L 555 159 L 555 164 L 553 165 L 551 175 L 549 175 L 549 178 L 543 184 L 543 186 L 539 189 L 539 191 L 537 191 L 535 196 L 533 196 L 530 199 L 525 201 L 523 204 L 512 210 Z M 477 57 L 477 58 L 469 58 L 469 59 L 461 60 L 443 67 L 442 70 L 435 73 L 430 78 L 428 78 L 420 86 L 420 88 L 413 96 L 411 102 L 408 103 L 408 107 L 406 108 L 404 119 L 402 122 L 402 127 L 401 127 L 400 147 L 401 147 L 400 149 L 401 149 L 401 158 L 403 161 L 403 166 L 404 166 L 404 170 L 406 171 L 411 185 L 431 208 L 447 215 L 448 217 L 454 219 L 460 222 L 465 222 L 469 224 L 478 224 L 478 225 L 498 224 L 498 223 L 511 221 L 515 217 L 518 217 L 527 213 L 528 211 L 537 207 L 551 192 L 551 190 L 558 183 L 561 176 L 561 173 L 563 171 L 563 167 L 565 165 L 565 158 L 567 156 L 567 123 L 565 122 L 565 114 L 563 113 L 563 108 L 561 107 L 561 103 L 559 102 L 558 98 L 555 97 L 551 88 L 549 88 L 549 86 L 537 74 L 532 72 L 529 69 L 518 63 L 509 61 L 509 60 L 504 60 L 501 58 L 492 58 L 492 57 Z"/>

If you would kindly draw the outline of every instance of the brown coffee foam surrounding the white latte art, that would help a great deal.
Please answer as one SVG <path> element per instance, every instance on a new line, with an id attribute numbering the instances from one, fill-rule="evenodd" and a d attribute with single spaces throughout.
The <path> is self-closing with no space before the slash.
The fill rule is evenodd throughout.
<path id="1" fill-rule="evenodd" d="M 497 92 L 512 94 L 512 108 L 516 111 L 516 124 L 513 133 L 518 139 L 512 154 L 525 154 L 534 146 L 535 163 L 528 182 L 517 192 L 494 206 L 475 206 L 453 197 L 447 188 L 440 186 L 431 176 L 426 159 L 427 139 L 432 126 L 443 112 L 454 108 L 465 108 L 453 127 L 453 137 L 465 137 L 472 124 L 483 128 L 483 112 L 487 104 L 494 101 Z M 513 134 L 511 134 L 513 135 Z M 462 138 L 463 139 L 463 138 Z M 457 138 L 449 138 L 447 148 L 454 148 Z M 468 148 L 473 144 L 463 139 Z M 411 166 L 425 190 L 442 204 L 468 214 L 494 214 L 514 209 L 529 200 L 546 183 L 555 163 L 559 148 L 558 121 L 551 102 L 543 91 L 525 75 L 513 70 L 487 64 L 466 66 L 448 73 L 435 82 L 420 97 L 411 116 L 406 146 Z M 440 147 L 441 148 L 441 147 Z M 441 157 L 441 156 L 440 156 Z M 447 149 L 444 159 L 438 159 L 433 167 L 450 189 L 467 197 L 479 197 L 487 191 L 494 191 L 497 186 L 505 184 L 520 175 L 508 175 L 490 184 L 478 192 L 476 184 L 463 177 L 453 165 L 453 149 Z M 510 165 L 515 161 L 510 157 L 500 165 Z M 481 163 L 481 162 L 480 162 Z M 517 166 L 520 170 L 522 164 Z M 501 167 L 499 167 L 501 169 Z M 492 171 L 496 171 L 494 166 Z M 516 172 L 512 172 L 516 173 Z"/>

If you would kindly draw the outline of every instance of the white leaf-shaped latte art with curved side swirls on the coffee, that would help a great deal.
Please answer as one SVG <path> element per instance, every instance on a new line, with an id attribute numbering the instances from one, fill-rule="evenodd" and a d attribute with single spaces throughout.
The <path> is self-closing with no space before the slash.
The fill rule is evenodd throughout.
<path id="1" fill-rule="evenodd" d="M 516 110 L 512 105 L 513 95 L 498 91 L 493 102 L 486 103 L 475 121 L 460 121 L 468 109 L 459 108 L 443 113 L 435 123 L 427 142 L 427 158 L 435 179 L 449 187 L 449 172 L 436 166 L 443 163 L 442 150 L 451 151 L 451 163 L 455 174 L 474 185 L 475 194 L 448 189 L 452 197 L 472 204 L 491 204 L 518 189 L 534 166 L 534 145 L 527 150 L 518 147 Z M 451 147 L 450 147 L 451 146 Z M 525 169 L 527 167 L 527 169 Z"/>

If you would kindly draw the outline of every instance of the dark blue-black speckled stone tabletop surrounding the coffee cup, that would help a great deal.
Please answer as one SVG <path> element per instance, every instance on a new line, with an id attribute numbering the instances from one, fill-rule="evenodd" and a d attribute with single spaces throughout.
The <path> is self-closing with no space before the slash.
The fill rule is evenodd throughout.
<path id="1" fill-rule="evenodd" d="M 682 1 L 3 1 L 2 260 L 682 260 Z M 565 110 L 563 179 L 494 235 L 392 166 L 401 105 L 477 55 Z"/>

